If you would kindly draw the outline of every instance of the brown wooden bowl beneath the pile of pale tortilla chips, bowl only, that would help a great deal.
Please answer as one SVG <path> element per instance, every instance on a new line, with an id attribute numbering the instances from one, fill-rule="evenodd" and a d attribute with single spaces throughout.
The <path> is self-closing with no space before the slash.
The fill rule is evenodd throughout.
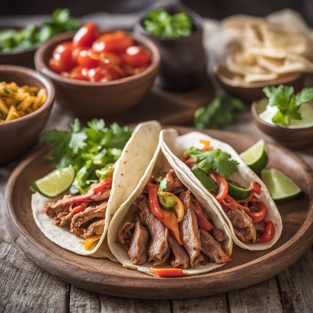
<path id="1" fill-rule="evenodd" d="M 265 86 L 286 85 L 293 86 L 295 92 L 302 90 L 304 86 L 304 74 L 295 73 L 290 74 L 284 78 L 277 80 L 269 80 L 255 83 L 239 83 L 230 79 L 229 71 L 223 65 L 215 65 L 213 72 L 219 82 L 219 84 L 231 95 L 243 100 L 245 103 L 250 104 L 254 100 L 259 100 L 264 97 L 262 89 Z"/>

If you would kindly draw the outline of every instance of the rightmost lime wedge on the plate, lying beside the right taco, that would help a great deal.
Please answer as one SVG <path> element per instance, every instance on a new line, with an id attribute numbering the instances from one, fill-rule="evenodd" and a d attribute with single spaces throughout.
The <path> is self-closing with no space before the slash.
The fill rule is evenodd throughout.
<path id="1" fill-rule="evenodd" d="M 292 179 L 276 168 L 262 170 L 261 178 L 273 200 L 291 199 L 301 192 Z"/>

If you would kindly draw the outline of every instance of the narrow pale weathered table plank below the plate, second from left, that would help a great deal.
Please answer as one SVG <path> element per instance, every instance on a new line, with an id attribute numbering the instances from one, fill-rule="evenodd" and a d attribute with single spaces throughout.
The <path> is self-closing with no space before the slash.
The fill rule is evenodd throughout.
<path id="1" fill-rule="evenodd" d="M 71 285 L 69 293 L 69 312 L 101 312 L 100 295 L 96 292 L 91 292 Z"/>

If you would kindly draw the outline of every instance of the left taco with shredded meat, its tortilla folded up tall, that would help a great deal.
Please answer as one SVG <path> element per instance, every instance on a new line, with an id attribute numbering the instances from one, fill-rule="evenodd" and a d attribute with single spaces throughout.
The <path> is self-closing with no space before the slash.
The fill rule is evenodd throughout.
<path id="1" fill-rule="evenodd" d="M 64 249 L 81 255 L 108 257 L 105 235 L 116 210 L 133 192 L 158 146 L 161 125 L 140 123 L 107 177 L 90 185 L 85 194 L 51 199 L 32 195 L 34 220 L 44 235 Z"/>

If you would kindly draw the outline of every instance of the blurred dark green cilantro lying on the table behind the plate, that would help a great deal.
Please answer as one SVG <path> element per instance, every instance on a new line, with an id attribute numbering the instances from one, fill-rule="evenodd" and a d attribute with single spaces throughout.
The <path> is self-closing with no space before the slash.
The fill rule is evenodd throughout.
<path id="1" fill-rule="evenodd" d="M 217 94 L 206 107 L 194 114 L 194 125 L 198 128 L 221 128 L 233 122 L 233 113 L 246 110 L 244 103 L 228 95 Z"/>

